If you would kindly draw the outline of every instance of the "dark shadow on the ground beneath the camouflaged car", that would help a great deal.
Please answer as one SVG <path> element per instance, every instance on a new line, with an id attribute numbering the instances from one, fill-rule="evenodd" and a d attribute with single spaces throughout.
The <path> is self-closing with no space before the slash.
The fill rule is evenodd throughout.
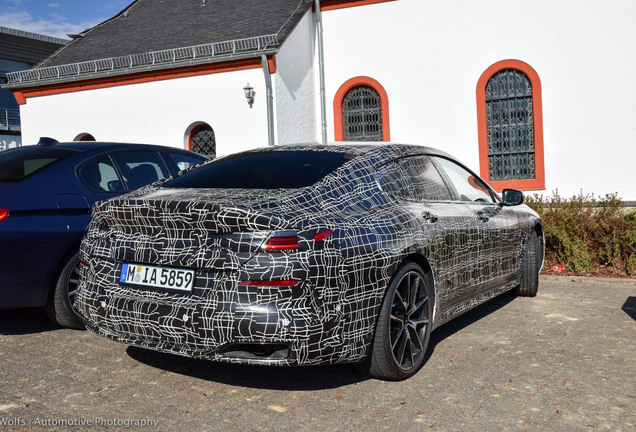
<path id="1" fill-rule="evenodd" d="M 506 306 L 516 296 L 503 294 L 436 329 L 431 335 L 426 360 L 447 337 Z M 356 365 L 267 367 L 217 363 L 181 357 L 138 347 L 128 347 L 133 359 L 158 369 L 232 386 L 272 390 L 324 390 L 368 380 Z M 426 364 L 424 365 L 426 367 Z"/>

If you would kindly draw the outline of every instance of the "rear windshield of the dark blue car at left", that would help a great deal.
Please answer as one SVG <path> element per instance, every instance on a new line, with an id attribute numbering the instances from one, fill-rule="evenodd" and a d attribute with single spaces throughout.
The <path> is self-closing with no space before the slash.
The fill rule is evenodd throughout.
<path id="1" fill-rule="evenodd" d="M 73 153 L 74 150 L 36 146 L 0 151 L 0 182 L 17 183 Z"/>

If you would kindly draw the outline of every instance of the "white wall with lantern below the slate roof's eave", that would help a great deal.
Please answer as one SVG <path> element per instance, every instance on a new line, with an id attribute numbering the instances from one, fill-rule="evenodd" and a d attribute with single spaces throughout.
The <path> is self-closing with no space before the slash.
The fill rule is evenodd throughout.
<path id="1" fill-rule="evenodd" d="M 248 82 L 256 91 L 252 108 L 243 92 Z M 267 145 L 265 93 L 257 68 L 28 98 L 21 106 L 22 143 L 90 133 L 98 141 L 187 148 L 189 126 L 206 122 L 221 156 Z"/>

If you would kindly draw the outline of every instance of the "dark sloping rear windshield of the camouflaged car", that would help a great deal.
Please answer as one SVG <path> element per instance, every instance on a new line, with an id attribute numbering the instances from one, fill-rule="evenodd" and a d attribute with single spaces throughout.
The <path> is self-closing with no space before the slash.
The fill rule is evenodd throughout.
<path id="1" fill-rule="evenodd" d="M 290 150 L 243 153 L 219 159 L 165 184 L 171 188 L 295 189 L 311 186 L 351 156 Z"/>

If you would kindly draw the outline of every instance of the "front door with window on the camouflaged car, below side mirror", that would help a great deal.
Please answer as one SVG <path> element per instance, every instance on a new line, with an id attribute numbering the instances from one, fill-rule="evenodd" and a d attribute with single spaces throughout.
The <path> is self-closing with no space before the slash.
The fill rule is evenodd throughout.
<path id="1" fill-rule="evenodd" d="M 466 168 L 443 157 L 433 160 L 478 226 L 474 294 L 510 282 L 516 276 L 522 241 L 515 212 L 501 206 L 492 189 Z"/>

